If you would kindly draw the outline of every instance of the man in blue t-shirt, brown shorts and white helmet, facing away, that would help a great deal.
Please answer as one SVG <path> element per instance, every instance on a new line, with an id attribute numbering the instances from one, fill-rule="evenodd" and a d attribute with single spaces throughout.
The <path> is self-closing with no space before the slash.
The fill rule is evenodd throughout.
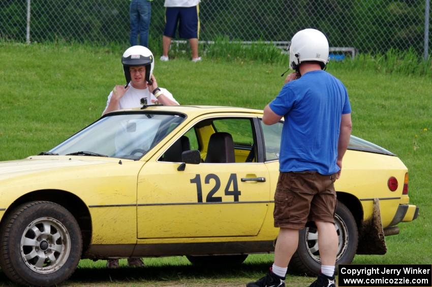
<path id="1" fill-rule="evenodd" d="M 280 175 L 274 195 L 274 226 L 280 228 L 269 273 L 248 287 L 285 286 L 288 263 L 308 221 L 318 228 L 321 272 L 311 287 L 334 287 L 338 238 L 334 227 L 336 193 L 352 123 L 348 93 L 342 82 L 323 71 L 327 38 L 304 29 L 291 40 L 290 68 L 279 95 L 264 108 L 263 122 L 285 118 Z"/>

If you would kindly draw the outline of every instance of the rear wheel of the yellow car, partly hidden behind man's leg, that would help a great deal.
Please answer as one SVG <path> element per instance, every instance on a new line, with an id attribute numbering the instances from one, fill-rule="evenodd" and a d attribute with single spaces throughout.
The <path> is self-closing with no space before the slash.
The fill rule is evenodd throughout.
<path id="1" fill-rule="evenodd" d="M 351 211 L 341 202 L 337 202 L 334 221 L 339 238 L 336 265 L 350 264 L 354 259 L 358 244 L 356 221 Z M 321 260 L 319 258 L 318 241 L 316 240 L 317 234 L 316 227 L 306 227 L 300 231 L 298 248 L 290 262 L 290 268 L 294 272 L 311 276 L 316 276 L 320 272 Z M 310 237 L 312 237 L 312 240 L 308 240 Z"/>

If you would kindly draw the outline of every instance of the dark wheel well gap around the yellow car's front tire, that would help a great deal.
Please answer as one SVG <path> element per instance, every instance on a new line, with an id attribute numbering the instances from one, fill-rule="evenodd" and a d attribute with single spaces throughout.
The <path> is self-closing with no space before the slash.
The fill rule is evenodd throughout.
<path id="1" fill-rule="evenodd" d="M 84 202 L 77 197 L 76 195 L 69 193 L 65 190 L 59 189 L 44 189 L 44 190 L 35 190 L 34 192 L 27 193 L 22 195 L 18 199 L 16 199 L 5 211 L 3 214 L 2 220 L 0 224 L 3 224 L 4 218 L 7 217 L 7 214 L 15 209 L 15 207 L 19 206 L 22 203 L 30 202 L 30 201 L 50 201 L 57 203 L 71 212 L 76 220 L 78 221 L 78 225 L 81 229 L 82 233 L 82 243 L 83 253 L 88 249 L 88 246 L 91 242 L 91 217 L 90 212 L 88 211 L 87 206 Z"/>

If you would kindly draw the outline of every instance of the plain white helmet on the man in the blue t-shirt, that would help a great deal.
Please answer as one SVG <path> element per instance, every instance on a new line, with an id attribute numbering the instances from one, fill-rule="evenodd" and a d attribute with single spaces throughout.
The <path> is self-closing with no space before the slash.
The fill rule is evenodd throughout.
<path id="1" fill-rule="evenodd" d="M 296 71 L 303 61 L 318 61 L 324 69 L 329 60 L 327 38 L 316 29 L 298 31 L 291 40 L 289 50 L 290 68 Z"/>

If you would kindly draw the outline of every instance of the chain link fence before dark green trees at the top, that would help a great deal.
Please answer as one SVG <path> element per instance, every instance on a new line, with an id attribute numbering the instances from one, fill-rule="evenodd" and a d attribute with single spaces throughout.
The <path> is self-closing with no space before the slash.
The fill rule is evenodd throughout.
<path id="1" fill-rule="evenodd" d="M 430 53 L 430 0 L 202 0 L 200 40 L 289 41 L 322 30 L 332 47 Z M 128 0 L 1 0 L 0 37 L 19 42 L 129 41 Z M 162 37 L 163 0 L 152 2 L 150 38 Z"/>

